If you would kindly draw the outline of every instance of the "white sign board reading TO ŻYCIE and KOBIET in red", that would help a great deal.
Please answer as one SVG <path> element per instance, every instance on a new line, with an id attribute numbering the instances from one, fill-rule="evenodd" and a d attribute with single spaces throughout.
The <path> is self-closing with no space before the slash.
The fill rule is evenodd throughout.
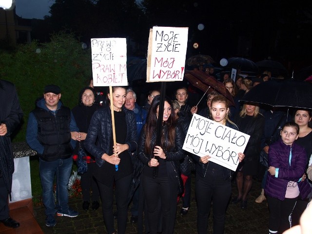
<path id="1" fill-rule="evenodd" d="M 125 38 L 91 39 L 94 86 L 126 86 L 127 43 Z"/>

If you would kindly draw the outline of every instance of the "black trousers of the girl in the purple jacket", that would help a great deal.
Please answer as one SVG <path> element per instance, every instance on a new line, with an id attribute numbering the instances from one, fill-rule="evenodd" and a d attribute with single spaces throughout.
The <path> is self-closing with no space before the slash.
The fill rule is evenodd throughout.
<path id="1" fill-rule="evenodd" d="M 292 211 L 296 205 L 298 197 L 285 198 L 279 200 L 267 195 L 270 216 L 269 216 L 269 233 L 283 233 L 292 227 Z"/>

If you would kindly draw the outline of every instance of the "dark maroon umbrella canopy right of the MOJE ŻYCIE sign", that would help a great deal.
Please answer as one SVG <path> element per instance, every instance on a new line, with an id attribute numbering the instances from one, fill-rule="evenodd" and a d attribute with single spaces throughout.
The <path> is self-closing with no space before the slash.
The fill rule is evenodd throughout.
<path id="1" fill-rule="evenodd" d="M 235 106 L 232 95 L 225 88 L 224 84 L 216 80 L 214 77 L 209 76 L 202 71 L 185 71 L 184 77 L 188 81 L 190 81 L 192 85 L 204 92 L 206 92 L 208 88 L 211 87 L 208 90 L 208 93 L 211 93 L 212 91 L 217 91 L 230 101 L 230 105 Z"/>

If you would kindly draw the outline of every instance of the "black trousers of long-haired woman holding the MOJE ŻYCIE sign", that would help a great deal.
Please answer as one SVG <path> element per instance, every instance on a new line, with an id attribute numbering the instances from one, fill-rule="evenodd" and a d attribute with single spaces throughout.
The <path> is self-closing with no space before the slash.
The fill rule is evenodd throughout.
<path id="1" fill-rule="evenodd" d="M 163 234 L 172 234 L 176 220 L 177 181 L 168 177 L 141 176 L 150 234 L 157 233 L 158 201 L 160 198 Z"/>

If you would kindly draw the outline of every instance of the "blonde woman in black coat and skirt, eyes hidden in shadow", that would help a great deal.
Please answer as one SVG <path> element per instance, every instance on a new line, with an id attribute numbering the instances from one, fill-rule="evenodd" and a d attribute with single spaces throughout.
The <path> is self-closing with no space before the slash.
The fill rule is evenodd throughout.
<path id="1" fill-rule="evenodd" d="M 261 151 L 261 136 L 264 131 L 264 117 L 259 113 L 259 107 L 244 104 L 239 115 L 235 117 L 239 131 L 250 135 L 245 149 L 245 159 L 236 169 L 236 185 L 238 195 L 232 203 L 240 202 L 242 209 L 247 208 L 247 195 L 253 185 L 253 176 L 257 175 L 259 156 Z"/>

